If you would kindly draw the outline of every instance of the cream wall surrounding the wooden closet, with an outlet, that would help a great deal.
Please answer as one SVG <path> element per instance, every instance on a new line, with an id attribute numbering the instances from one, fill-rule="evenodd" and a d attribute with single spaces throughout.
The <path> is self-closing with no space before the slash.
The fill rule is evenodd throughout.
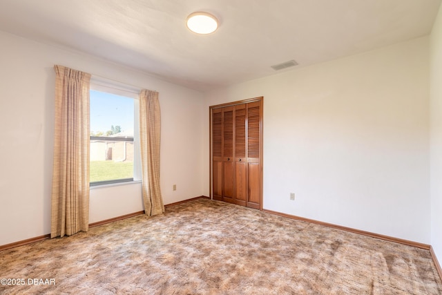
<path id="1" fill-rule="evenodd" d="M 430 243 L 428 41 L 206 93 L 264 96 L 265 209 Z"/>

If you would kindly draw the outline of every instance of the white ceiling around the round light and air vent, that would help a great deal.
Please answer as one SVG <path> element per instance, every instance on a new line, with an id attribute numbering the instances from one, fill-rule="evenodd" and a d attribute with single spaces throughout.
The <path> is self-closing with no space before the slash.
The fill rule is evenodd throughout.
<path id="1" fill-rule="evenodd" d="M 0 0 L 0 30 L 199 91 L 430 34 L 441 0 Z M 196 35 L 195 11 L 220 27 Z M 288 68 L 282 71 L 292 70 Z"/>

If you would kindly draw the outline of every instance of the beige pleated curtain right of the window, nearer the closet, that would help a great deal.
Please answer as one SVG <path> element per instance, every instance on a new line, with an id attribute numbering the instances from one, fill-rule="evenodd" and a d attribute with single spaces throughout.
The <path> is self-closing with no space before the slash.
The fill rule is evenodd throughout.
<path id="1" fill-rule="evenodd" d="M 140 93 L 140 143 L 144 213 L 164 213 L 160 188 L 161 115 L 158 93 L 143 89 Z"/>

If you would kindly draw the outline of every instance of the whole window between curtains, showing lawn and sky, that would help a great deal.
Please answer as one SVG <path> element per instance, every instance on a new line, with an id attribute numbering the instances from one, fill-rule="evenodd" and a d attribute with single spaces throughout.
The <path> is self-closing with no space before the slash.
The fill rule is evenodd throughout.
<path id="1" fill-rule="evenodd" d="M 90 186 L 140 180 L 136 92 L 90 89 Z"/>

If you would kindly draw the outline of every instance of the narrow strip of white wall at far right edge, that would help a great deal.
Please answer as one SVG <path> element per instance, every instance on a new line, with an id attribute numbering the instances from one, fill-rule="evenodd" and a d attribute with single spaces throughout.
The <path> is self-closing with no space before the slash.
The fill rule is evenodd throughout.
<path id="1" fill-rule="evenodd" d="M 430 40 L 431 245 L 442 263 L 442 6 Z"/>

